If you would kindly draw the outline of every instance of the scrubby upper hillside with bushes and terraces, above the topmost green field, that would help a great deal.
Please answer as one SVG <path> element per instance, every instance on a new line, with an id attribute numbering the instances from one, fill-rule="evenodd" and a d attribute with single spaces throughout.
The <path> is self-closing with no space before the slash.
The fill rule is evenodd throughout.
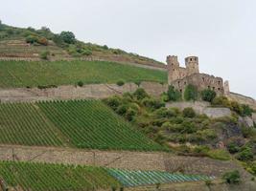
<path id="1" fill-rule="evenodd" d="M 107 60 L 147 65 L 163 65 L 151 58 L 120 49 L 84 43 L 72 32 L 56 34 L 46 27 L 21 29 L 0 23 L 0 59 L 39 60 L 48 53 L 50 60 Z"/>

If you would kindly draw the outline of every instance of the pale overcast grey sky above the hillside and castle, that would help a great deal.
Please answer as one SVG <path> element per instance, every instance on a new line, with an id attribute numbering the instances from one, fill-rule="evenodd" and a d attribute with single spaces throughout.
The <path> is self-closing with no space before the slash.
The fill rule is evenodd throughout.
<path id="1" fill-rule="evenodd" d="M 201 73 L 229 80 L 231 92 L 256 98 L 255 0 L 0 0 L 15 27 L 71 31 L 165 62 L 199 57 Z"/>

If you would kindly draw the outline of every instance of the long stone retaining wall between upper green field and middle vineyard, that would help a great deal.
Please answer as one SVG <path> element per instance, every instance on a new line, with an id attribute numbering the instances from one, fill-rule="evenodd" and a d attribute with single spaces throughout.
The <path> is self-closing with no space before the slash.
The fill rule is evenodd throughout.
<path id="1" fill-rule="evenodd" d="M 151 96 L 160 96 L 167 91 L 167 85 L 156 82 L 142 82 L 140 87 Z M 126 92 L 134 92 L 138 86 L 134 83 L 126 83 L 123 86 L 116 84 L 89 84 L 83 87 L 59 86 L 58 88 L 15 88 L 0 89 L 2 102 L 36 101 L 49 99 L 80 99 L 80 98 L 105 98 L 108 96 L 122 95 Z"/>

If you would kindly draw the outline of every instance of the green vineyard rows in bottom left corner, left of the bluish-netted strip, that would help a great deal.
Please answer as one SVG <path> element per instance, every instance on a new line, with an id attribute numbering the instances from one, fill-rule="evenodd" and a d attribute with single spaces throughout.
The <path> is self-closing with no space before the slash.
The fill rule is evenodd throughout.
<path id="1" fill-rule="evenodd" d="M 100 167 L 42 164 L 30 162 L 0 162 L 0 180 L 5 188 L 21 187 L 31 191 L 96 190 L 120 187 Z"/>

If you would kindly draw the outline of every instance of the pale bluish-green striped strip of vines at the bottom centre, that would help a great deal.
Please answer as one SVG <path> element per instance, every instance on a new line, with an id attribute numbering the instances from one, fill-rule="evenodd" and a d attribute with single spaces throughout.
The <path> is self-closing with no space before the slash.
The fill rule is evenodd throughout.
<path id="1" fill-rule="evenodd" d="M 205 181 L 214 177 L 200 175 L 171 174 L 159 171 L 130 171 L 122 169 L 107 169 L 107 172 L 126 187 L 141 186 L 157 183 Z"/>

